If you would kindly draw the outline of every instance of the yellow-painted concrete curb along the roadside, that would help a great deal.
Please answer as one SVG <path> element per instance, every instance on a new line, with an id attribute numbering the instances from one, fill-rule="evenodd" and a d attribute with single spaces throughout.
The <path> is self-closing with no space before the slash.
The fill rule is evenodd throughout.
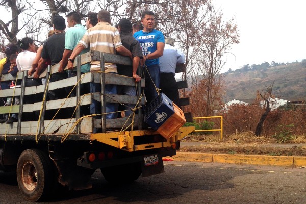
<path id="1" fill-rule="evenodd" d="M 259 164 L 275 166 L 306 166 L 306 157 L 268 156 L 268 155 L 228 155 L 195 152 L 177 152 L 177 155 L 166 157 L 176 161 L 219 162 L 228 164 Z"/>

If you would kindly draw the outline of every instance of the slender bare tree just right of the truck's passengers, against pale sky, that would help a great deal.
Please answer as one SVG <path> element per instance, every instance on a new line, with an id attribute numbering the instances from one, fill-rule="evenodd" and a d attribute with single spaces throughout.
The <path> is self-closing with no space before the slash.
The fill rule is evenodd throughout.
<path id="1" fill-rule="evenodd" d="M 212 114 L 212 87 L 217 84 L 220 70 L 225 64 L 222 57 L 232 44 L 239 43 L 237 26 L 233 19 L 224 23 L 222 12 L 218 13 L 213 8 L 209 11 L 208 22 L 199 27 L 201 43 L 197 52 L 198 67 L 206 79 L 206 116 Z"/>

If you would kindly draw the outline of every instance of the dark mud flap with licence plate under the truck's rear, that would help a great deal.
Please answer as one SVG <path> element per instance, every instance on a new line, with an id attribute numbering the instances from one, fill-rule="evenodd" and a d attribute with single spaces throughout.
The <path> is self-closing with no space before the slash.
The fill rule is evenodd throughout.
<path id="1" fill-rule="evenodd" d="M 162 156 L 158 154 L 145 155 L 141 163 L 141 170 L 142 177 L 164 173 L 165 169 Z"/>

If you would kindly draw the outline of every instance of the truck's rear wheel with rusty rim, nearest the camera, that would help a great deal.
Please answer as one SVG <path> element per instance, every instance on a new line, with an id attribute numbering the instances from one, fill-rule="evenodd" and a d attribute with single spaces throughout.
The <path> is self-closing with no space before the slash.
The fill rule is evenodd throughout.
<path id="1" fill-rule="evenodd" d="M 38 149 L 24 150 L 17 163 L 17 181 L 25 199 L 46 198 L 54 184 L 54 165 L 48 155 Z"/>

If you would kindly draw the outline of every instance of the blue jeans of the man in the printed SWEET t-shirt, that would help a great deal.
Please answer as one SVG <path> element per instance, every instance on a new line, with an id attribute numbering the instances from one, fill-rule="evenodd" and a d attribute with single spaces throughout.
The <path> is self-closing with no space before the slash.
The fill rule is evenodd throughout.
<path id="1" fill-rule="evenodd" d="M 147 69 L 144 67 L 145 73 L 145 89 L 144 94 L 149 104 L 155 97 L 157 97 L 157 92 L 155 90 L 155 86 L 159 88 L 160 85 L 160 68 L 158 64 L 147 66 Z M 150 76 L 149 76 L 150 74 Z M 152 79 L 151 79 L 152 78 Z M 153 82 L 152 82 L 153 81 Z M 154 84 L 155 86 L 154 86 Z"/>

